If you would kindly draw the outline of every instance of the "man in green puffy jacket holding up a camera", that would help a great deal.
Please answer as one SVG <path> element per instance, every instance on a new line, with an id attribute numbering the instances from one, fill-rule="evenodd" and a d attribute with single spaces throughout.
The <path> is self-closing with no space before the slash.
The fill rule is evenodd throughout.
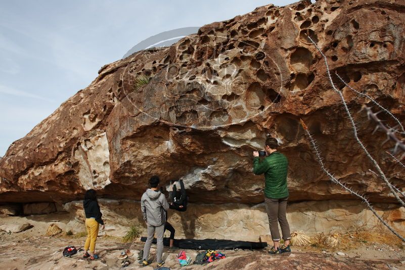
<path id="1" fill-rule="evenodd" d="M 287 221 L 286 210 L 288 200 L 287 172 L 288 159 L 277 151 L 278 142 L 275 138 L 267 138 L 265 142 L 266 157 L 260 161 L 259 152 L 253 152 L 253 172 L 256 175 L 264 173 L 264 202 L 266 206 L 270 233 L 274 246 L 268 251 L 270 254 L 291 252 L 290 226 Z M 280 247 L 280 232 L 283 234 L 284 245 Z"/>

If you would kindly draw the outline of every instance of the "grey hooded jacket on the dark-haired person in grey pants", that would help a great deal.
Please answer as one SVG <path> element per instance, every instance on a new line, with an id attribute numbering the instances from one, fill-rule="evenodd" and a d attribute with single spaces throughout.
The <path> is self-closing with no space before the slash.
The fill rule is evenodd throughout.
<path id="1" fill-rule="evenodd" d="M 141 210 L 144 220 L 152 226 L 161 226 L 166 222 L 169 209 L 166 197 L 160 191 L 147 189 L 141 198 Z"/>

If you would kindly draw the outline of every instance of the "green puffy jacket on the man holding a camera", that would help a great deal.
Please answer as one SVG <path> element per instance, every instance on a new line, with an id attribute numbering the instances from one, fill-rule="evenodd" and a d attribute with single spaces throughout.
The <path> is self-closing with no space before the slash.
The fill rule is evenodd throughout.
<path id="1" fill-rule="evenodd" d="M 255 157 L 253 159 L 253 172 L 257 175 L 264 173 L 264 196 L 271 199 L 288 197 L 288 159 L 285 155 L 276 151 L 261 162 L 259 157 Z"/>

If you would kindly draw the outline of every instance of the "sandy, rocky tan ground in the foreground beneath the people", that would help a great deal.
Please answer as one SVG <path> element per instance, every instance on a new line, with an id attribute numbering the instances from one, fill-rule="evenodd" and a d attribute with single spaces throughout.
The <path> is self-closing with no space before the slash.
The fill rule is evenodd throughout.
<path id="1" fill-rule="evenodd" d="M 119 238 L 99 237 L 96 251 L 100 259 L 91 261 L 82 258 L 82 252 L 71 258 L 63 257 L 63 248 L 67 245 L 82 247 L 85 237 L 75 238 L 61 233 L 56 237 L 45 236 L 49 224 L 66 222 L 64 214 L 2 217 L 0 224 L 29 222 L 33 227 L 21 233 L 0 232 L 0 269 L 153 269 L 156 267 L 155 246 L 152 245 L 151 266 L 142 267 L 137 261 L 138 251 L 143 248 L 139 240 L 123 244 Z M 76 236 L 77 237 L 77 236 Z M 354 240 L 353 240 L 354 241 Z M 123 268 L 117 258 L 124 249 L 130 249 L 134 255 L 128 258 L 131 264 Z M 405 246 L 401 244 L 361 243 L 356 248 L 342 250 L 344 256 L 337 255 L 338 250 L 318 247 L 293 247 L 291 254 L 269 255 L 266 250 L 221 250 L 227 258 L 214 261 L 205 266 L 190 265 L 179 267 L 177 251 L 164 249 L 163 259 L 171 269 L 405 269 Z M 188 256 L 195 258 L 197 250 L 186 250 Z"/>

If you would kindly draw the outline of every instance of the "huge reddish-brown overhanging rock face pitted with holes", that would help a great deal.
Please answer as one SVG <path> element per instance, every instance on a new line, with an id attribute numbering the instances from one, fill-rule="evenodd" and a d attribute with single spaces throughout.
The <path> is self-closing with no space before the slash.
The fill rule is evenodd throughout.
<path id="1" fill-rule="evenodd" d="M 402 188 L 404 170 L 385 154 L 392 145 L 381 146 L 385 135 L 372 134 L 375 124 L 358 112 L 369 101 L 335 72 L 403 121 L 404 10 L 404 1 L 378 0 L 268 5 L 105 65 L 10 146 L 0 160 L 0 199 L 61 204 L 94 188 L 139 200 L 157 174 L 163 184 L 183 177 L 191 202 L 257 204 L 264 183 L 252 173 L 252 151 L 267 134 L 289 158 L 291 201 L 352 198 L 320 171 L 302 118 L 336 177 L 371 201 L 394 202 L 356 144 L 310 39 L 326 55 L 359 137 Z"/>

